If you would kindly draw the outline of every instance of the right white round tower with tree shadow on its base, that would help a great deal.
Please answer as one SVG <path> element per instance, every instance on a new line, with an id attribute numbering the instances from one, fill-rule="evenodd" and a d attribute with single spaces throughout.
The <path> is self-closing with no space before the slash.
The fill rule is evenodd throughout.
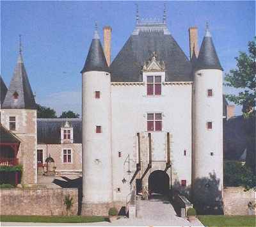
<path id="1" fill-rule="evenodd" d="M 199 210 L 222 209 L 222 67 L 207 26 L 193 82 L 193 202 Z"/>

